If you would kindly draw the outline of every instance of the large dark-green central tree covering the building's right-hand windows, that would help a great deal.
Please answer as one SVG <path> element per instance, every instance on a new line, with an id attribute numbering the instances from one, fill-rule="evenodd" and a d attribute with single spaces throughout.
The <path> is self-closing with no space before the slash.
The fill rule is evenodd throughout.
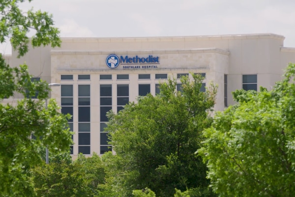
<path id="1" fill-rule="evenodd" d="M 139 97 L 118 114 L 109 114 L 105 131 L 116 151 L 112 170 L 114 196 L 131 196 L 132 190 L 148 187 L 156 196 L 173 196 L 175 188 L 207 188 L 206 166 L 195 151 L 201 132 L 211 124 L 208 112 L 215 102 L 216 87 L 201 92 L 203 78 L 194 75 L 160 86 L 160 94 Z M 115 168 L 115 169 L 114 169 Z M 108 175 L 108 172 L 111 175 Z"/>

